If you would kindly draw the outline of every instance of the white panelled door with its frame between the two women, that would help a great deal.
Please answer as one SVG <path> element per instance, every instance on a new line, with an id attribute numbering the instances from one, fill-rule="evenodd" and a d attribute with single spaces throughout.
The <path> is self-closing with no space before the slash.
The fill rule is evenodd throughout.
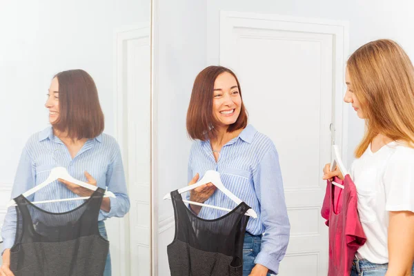
<path id="1" fill-rule="evenodd" d="M 221 13 L 220 64 L 235 71 L 250 124 L 279 152 L 291 225 L 281 276 L 327 273 L 322 168 L 331 157 L 331 123 L 342 146 L 346 34 L 346 24 L 332 21 Z"/>

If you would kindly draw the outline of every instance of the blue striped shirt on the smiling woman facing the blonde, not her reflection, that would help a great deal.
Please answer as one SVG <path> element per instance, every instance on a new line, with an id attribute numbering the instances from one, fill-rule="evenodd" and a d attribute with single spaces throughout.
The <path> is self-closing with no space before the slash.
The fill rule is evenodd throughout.
<path id="1" fill-rule="evenodd" d="M 197 140 L 190 150 L 188 181 L 197 172 L 201 179 L 206 170 L 219 172 L 226 188 L 256 211 L 257 219 L 250 217 L 246 230 L 252 235 L 266 233 L 255 264 L 262 264 L 270 272 L 278 273 L 279 262 L 288 246 L 290 224 L 279 157 L 273 142 L 248 125 L 238 137 L 221 148 L 216 162 L 210 141 Z M 204 203 L 230 209 L 236 206 L 218 189 Z M 213 208 L 201 208 L 199 217 L 217 219 L 226 213 Z"/>

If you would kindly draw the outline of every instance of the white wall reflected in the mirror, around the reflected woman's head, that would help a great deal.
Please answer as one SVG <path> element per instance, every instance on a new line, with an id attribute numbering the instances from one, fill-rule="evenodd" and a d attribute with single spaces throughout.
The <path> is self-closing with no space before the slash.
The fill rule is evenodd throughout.
<path id="1" fill-rule="evenodd" d="M 1 1 L 0 224 L 10 197 L 1 187 L 12 184 L 28 137 L 48 126 L 44 103 L 53 75 L 75 68 L 89 72 L 105 132 L 114 135 L 115 30 L 148 21 L 150 0 Z"/>

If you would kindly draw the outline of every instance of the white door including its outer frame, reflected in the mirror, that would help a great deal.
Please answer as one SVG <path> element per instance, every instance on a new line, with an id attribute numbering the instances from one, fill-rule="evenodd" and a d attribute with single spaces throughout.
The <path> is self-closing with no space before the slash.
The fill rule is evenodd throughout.
<path id="1" fill-rule="evenodd" d="M 121 227 L 124 248 L 114 275 L 151 273 L 150 28 L 117 33 L 117 139 L 128 184 L 130 212 Z"/>

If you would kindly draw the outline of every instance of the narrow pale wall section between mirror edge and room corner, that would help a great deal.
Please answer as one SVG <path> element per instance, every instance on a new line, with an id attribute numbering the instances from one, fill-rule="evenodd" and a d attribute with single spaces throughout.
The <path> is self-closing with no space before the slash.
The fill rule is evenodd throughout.
<path id="1" fill-rule="evenodd" d="M 166 245 L 172 242 L 171 201 L 162 197 L 187 184 L 186 113 L 193 81 L 206 67 L 207 1 L 155 1 L 155 177 L 157 221 L 166 230 L 158 239 L 158 275 L 169 275 Z M 172 223 L 171 223 L 172 222 Z"/>

